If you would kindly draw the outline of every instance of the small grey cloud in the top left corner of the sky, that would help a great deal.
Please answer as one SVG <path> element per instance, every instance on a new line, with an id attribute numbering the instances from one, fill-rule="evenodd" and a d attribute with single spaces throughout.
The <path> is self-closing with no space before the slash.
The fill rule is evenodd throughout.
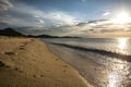
<path id="1" fill-rule="evenodd" d="M 10 8 L 13 8 L 13 4 L 10 2 L 10 0 L 0 0 L 0 11 L 7 11 Z"/>

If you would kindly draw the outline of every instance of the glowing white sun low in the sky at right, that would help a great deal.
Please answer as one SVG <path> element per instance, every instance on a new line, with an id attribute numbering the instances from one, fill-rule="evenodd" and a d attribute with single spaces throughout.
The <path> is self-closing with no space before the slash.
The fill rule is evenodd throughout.
<path id="1" fill-rule="evenodd" d="M 127 24 L 131 22 L 131 17 L 128 12 L 122 11 L 118 13 L 111 21 L 115 24 Z"/>

